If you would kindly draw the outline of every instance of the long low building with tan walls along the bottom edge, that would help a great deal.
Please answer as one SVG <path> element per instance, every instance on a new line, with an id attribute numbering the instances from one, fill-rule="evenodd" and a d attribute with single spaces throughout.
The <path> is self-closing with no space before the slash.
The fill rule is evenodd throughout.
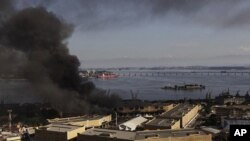
<path id="1" fill-rule="evenodd" d="M 78 141 L 211 141 L 211 135 L 201 130 L 154 130 L 127 132 L 90 129 L 78 135 Z"/>

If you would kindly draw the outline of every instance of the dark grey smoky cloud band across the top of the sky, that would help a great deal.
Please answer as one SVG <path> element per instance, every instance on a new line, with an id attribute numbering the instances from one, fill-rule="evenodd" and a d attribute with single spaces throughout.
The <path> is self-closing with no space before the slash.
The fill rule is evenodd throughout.
<path id="1" fill-rule="evenodd" d="M 73 22 L 79 29 L 96 31 L 152 21 L 198 24 L 215 28 L 250 24 L 248 0 L 54 0 L 25 1 L 16 5 L 43 5 Z"/>

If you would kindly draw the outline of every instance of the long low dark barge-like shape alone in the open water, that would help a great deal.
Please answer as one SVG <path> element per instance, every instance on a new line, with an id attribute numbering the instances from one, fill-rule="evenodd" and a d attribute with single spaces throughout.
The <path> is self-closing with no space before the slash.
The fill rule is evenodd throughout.
<path id="1" fill-rule="evenodd" d="M 162 89 L 165 90 L 203 90 L 206 86 L 199 84 L 185 84 L 185 85 L 173 85 L 173 86 L 164 86 Z"/>

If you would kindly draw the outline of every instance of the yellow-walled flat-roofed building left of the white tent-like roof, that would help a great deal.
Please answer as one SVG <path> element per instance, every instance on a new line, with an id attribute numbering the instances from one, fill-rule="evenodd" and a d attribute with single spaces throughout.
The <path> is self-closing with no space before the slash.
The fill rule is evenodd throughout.
<path id="1" fill-rule="evenodd" d="M 48 119 L 48 122 L 51 124 L 69 124 L 69 125 L 84 126 L 85 128 L 92 128 L 92 127 L 103 127 L 107 125 L 111 120 L 112 120 L 111 115 L 106 115 L 106 116 L 94 115 L 94 116 Z"/>

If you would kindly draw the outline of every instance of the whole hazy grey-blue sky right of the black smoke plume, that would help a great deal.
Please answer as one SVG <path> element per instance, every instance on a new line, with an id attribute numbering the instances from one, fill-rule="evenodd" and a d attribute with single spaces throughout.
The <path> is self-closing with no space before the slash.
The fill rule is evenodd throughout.
<path id="1" fill-rule="evenodd" d="M 75 25 L 82 67 L 250 65 L 249 0 L 21 0 Z"/>

